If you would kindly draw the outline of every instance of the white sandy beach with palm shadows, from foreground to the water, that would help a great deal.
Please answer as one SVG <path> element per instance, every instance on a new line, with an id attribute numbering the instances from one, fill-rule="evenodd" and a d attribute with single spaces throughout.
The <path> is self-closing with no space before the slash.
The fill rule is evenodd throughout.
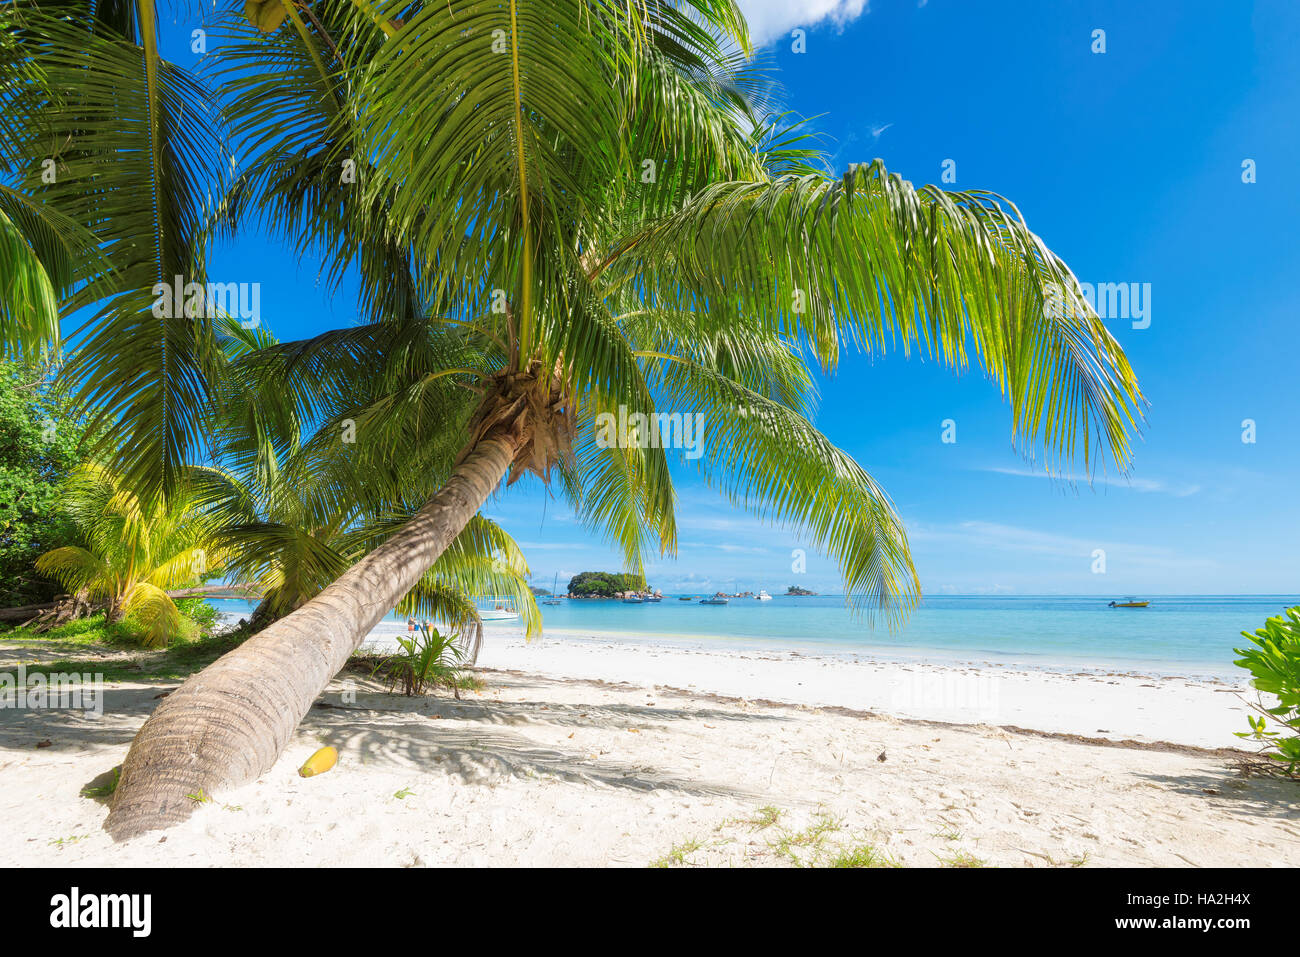
<path id="1" fill-rule="evenodd" d="M 174 683 L 0 709 L 0 865 L 1300 865 L 1300 787 L 1197 746 L 1227 685 L 611 644 L 491 636 L 463 701 L 335 679 L 257 781 L 121 845 L 82 792 Z"/>

